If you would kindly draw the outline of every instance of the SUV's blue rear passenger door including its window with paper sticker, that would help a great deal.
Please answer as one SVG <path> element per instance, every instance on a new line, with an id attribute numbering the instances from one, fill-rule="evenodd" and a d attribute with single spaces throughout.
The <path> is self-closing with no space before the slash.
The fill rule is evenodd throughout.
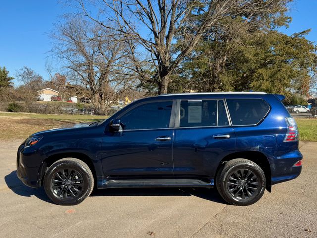
<path id="1" fill-rule="evenodd" d="M 175 176 L 215 176 L 236 139 L 223 99 L 178 100 L 173 159 Z"/>

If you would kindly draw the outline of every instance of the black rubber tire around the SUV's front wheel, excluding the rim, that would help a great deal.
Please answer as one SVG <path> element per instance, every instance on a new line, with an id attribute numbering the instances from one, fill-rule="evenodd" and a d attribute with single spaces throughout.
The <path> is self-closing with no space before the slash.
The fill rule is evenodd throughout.
<path id="1" fill-rule="evenodd" d="M 52 177 L 55 175 L 55 173 L 58 170 L 62 168 L 75 169 L 78 172 L 80 172 L 81 176 L 83 177 L 85 185 L 79 197 L 75 197 L 73 199 L 60 198 L 60 197 L 57 197 L 55 192 L 53 191 L 53 188 L 51 185 Z M 60 205 L 73 205 L 73 204 L 80 203 L 82 200 L 84 200 L 87 197 L 87 193 L 90 192 L 91 186 L 92 186 L 91 180 L 89 178 L 87 171 L 82 166 L 72 161 L 61 161 L 60 163 L 57 163 L 56 165 L 53 164 L 52 168 L 51 167 L 49 168 L 49 170 L 46 172 L 44 177 L 44 189 L 46 194 L 54 203 L 57 203 Z"/>

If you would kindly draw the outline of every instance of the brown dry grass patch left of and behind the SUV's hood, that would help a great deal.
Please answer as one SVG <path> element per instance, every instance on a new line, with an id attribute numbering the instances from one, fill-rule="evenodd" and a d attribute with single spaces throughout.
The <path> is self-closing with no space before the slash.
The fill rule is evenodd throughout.
<path id="1" fill-rule="evenodd" d="M 0 116 L 0 140 L 26 139 L 35 132 L 68 124 L 72 123 L 52 119 Z"/>

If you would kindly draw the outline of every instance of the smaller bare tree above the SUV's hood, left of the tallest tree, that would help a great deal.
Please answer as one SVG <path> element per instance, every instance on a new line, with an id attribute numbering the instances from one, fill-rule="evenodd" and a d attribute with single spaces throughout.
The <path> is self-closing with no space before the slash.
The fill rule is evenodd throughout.
<path id="1" fill-rule="evenodd" d="M 71 17 L 59 24 L 52 36 L 53 54 L 65 62 L 73 82 L 86 88 L 85 97 L 91 98 L 97 111 L 106 112 L 122 91 L 134 86 L 127 44 L 109 30 Z"/>

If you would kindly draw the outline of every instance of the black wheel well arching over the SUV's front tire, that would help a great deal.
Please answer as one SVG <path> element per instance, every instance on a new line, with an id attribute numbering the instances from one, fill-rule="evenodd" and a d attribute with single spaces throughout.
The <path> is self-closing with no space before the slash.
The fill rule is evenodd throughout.
<path id="1" fill-rule="evenodd" d="M 51 165 L 53 165 L 53 163 L 55 163 L 57 160 L 60 160 L 63 158 L 68 158 L 68 157 L 76 158 L 76 159 L 79 159 L 79 160 L 85 162 L 88 165 L 91 172 L 93 173 L 94 180 L 97 181 L 95 167 L 94 167 L 92 160 L 89 158 L 89 156 L 82 154 L 82 153 L 61 153 L 61 154 L 51 155 L 45 159 L 43 166 L 42 166 L 42 169 L 41 169 L 41 173 L 40 173 L 41 185 L 43 184 L 43 179 L 44 179 L 44 175 L 46 173 L 46 170 Z M 96 182 L 95 182 L 95 184 L 96 184 Z"/>

